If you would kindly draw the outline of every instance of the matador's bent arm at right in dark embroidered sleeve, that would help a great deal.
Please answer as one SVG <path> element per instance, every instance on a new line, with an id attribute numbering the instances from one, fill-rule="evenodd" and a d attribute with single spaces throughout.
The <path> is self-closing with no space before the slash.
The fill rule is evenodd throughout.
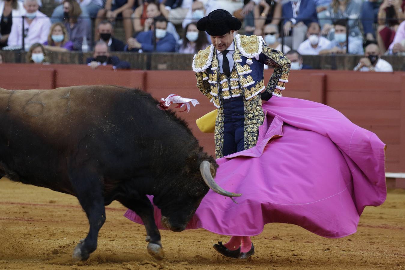
<path id="1" fill-rule="evenodd" d="M 269 100 L 272 96 L 281 97 L 281 91 L 285 89 L 284 84 L 288 83 L 291 61 L 281 51 L 269 48 L 264 43 L 262 45 L 263 49 L 258 61 L 274 67 L 269 83 L 261 94 L 262 100 Z"/>

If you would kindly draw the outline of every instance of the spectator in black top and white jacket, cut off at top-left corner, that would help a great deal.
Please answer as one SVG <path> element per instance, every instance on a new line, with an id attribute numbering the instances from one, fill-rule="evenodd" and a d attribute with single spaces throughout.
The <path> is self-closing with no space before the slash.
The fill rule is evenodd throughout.
<path id="1" fill-rule="evenodd" d="M 13 25 L 13 18 L 17 20 L 25 13 L 23 3 L 17 0 L 0 0 L 0 48 L 7 46 L 7 40 Z"/>

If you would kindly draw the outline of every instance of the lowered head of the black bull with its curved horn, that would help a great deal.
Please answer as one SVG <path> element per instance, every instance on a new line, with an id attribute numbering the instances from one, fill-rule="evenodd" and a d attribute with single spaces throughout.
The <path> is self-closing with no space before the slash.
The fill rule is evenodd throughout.
<path id="1" fill-rule="evenodd" d="M 222 189 L 213 179 L 216 174 L 217 164 L 204 160 L 199 166 L 199 177 L 203 181 L 193 181 L 192 186 L 186 187 L 188 190 L 184 194 L 176 194 L 171 202 L 167 203 L 162 210 L 162 224 L 174 232 L 181 232 L 185 229 L 188 221 L 194 215 L 196 209 L 203 200 L 209 188 L 218 194 L 227 197 L 239 197 L 242 194 L 232 193 Z M 197 175 L 196 175 L 197 177 Z M 233 199 L 232 199 L 233 200 Z"/>

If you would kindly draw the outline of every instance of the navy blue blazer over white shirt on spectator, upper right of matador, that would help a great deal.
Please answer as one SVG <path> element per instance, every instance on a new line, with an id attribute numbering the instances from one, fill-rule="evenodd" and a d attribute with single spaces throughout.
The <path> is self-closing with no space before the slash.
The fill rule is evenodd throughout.
<path id="1" fill-rule="evenodd" d="M 283 4 L 283 17 L 293 18 L 292 4 L 287 2 Z M 316 5 L 314 0 L 301 0 L 300 9 L 297 17 L 294 18 L 296 22 L 302 21 L 305 25 L 309 25 L 312 22 L 318 22 L 318 16 L 316 14 Z"/>

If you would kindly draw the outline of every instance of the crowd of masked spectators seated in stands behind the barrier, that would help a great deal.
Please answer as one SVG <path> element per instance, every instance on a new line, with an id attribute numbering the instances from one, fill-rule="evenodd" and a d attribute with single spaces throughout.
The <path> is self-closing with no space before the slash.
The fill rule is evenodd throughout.
<path id="1" fill-rule="evenodd" d="M 107 54 L 89 62 L 92 67 L 97 56 L 107 56 L 99 65 L 113 63 L 110 51 L 197 53 L 211 42 L 197 30 L 196 21 L 215 9 L 226 9 L 243 22 L 240 33 L 260 35 L 269 47 L 290 52 L 301 68 L 301 55 L 349 53 L 366 56 L 356 70 L 378 71 L 385 64 L 381 55 L 405 54 L 405 0 L 54 2 L 48 17 L 41 12 L 40 0 L 0 0 L 0 48 L 25 49 L 29 62 L 44 63 L 46 52 L 106 47 Z M 125 38 L 114 35 L 117 22 Z M 369 55 L 376 55 L 377 62 Z"/>

